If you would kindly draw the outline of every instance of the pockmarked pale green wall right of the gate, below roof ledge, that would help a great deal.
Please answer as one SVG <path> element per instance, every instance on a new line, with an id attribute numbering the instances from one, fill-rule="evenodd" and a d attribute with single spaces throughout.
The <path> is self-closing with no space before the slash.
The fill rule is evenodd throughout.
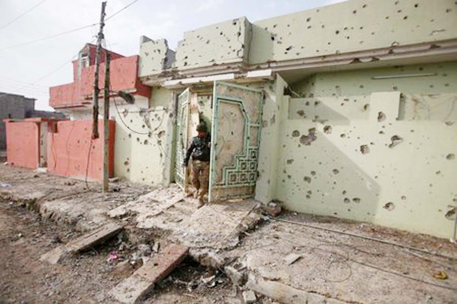
<path id="1" fill-rule="evenodd" d="M 424 71 L 430 75 L 405 77 Z M 296 83 L 305 97 L 283 99 L 276 198 L 295 211 L 452 236 L 456 82 L 451 62 Z"/>

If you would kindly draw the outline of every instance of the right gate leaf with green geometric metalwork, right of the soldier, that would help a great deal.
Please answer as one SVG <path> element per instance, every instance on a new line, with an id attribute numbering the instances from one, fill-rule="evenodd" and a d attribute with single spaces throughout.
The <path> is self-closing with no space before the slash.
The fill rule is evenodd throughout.
<path id="1" fill-rule="evenodd" d="M 263 94 L 214 83 L 209 199 L 254 196 Z"/>

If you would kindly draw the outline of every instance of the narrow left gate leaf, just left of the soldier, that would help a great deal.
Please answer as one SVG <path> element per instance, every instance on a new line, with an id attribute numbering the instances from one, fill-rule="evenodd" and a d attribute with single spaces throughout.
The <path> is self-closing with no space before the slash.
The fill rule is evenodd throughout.
<path id="1" fill-rule="evenodd" d="M 176 119 L 176 164 L 175 181 L 183 189 L 187 185 L 187 168 L 183 167 L 184 158 L 188 146 L 189 125 L 189 100 L 190 90 L 187 88 L 178 96 L 178 109 Z"/>

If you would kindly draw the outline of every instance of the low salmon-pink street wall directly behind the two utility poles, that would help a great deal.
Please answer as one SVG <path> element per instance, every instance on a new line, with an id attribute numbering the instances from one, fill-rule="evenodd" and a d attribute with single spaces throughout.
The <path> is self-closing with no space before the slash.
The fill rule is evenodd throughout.
<path id="1" fill-rule="evenodd" d="M 115 122 L 109 121 L 109 176 L 114 172 Z M 48 171 L 58 175 L 91 179 L 103 178 L 103 121 L 100 137 L 92 138 L 92 120 L 57 122 L 56 132 L 48 132 Z M 88 163 L 89 159 L 89 163 Z"/>

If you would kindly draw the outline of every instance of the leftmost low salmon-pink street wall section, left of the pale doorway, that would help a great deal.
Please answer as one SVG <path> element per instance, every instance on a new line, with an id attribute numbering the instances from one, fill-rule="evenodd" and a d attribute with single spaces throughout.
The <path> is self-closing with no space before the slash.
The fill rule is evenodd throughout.
<path id="1" fill-rule="evenodd" d="M 40 165 L 40 125 L 31 121 L 5 121 L 6 158 L 10 165 L 36 169 Z"/>

